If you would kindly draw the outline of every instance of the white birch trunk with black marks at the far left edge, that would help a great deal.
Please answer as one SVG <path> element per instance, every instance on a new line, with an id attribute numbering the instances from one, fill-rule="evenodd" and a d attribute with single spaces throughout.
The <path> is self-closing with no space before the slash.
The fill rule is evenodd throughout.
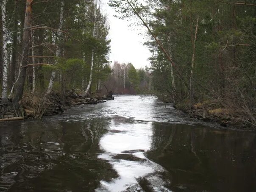
<path id="1" fill-rule="evenodd" d="M 2 84 L 2 103 L 7 102 L 7 83 L 8 83 L 8 52 L 7 52 L 7 25 L 6 25 L 6 3 L 1 3 L 2 20 L 3 20 L 3 84 Z"/>

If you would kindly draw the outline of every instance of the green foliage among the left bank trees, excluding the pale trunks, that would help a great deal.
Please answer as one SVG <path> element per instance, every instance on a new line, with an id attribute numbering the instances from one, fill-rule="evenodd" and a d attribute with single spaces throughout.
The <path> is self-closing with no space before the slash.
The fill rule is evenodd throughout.
<path id="1" fill-rule="evenodd" d="M 64 22 L 58 37 L 61 2 L 64 2 Z M 9 0 L 6 7 L 8 21 L 8 76 L 9 87 L 17 79 L 19 63 L 22 61 L 22 35 L 24 28 L 25 3 Z M 96 6 L 96 7 L 95 7 Z M 96 8 L 96 18 L 94 9 Z M 110 40 L 107 39 L 109 26 L 106 16 L 102 14 L 100 6 L 93 1 L 59 0 L 34 3 L 32 11 L 33 44 L 29 47 L 29 64 L 32 64 L 32 49 L 34 52 L 36 92 L 45 92 L 50 81 L 52 71 L 56 71 L 54 83 L 56 89 L 85 89 L 89 81 L 92 50 L 95 54 L 95 69 L 93 70 L 92 86 L 98 81 L 105 81 L 111 73 L 109 68 Z M 15 25 L 17 23 L 17 26 Z M 94 25 L 97 25 L 96 35 L 92 35 Z M 2 27 L 2 26 L 1 26 Z M 0 33 L 0 37 L 3 34 Z M 0 38 L 1 39 L 1 38 Z M 16 43 L 15 43 L 16 42 Z M 31 41 L 30 41 L 31 42 Z M 3 42 L 0 42 L 0 48 Z M 60 47 L 61 56 L 56 56 Z M 1 57 L 0 57 L 1 60 Z M 1 60 L 0 67 L 3 66 Z M 2 68 L 0 68 L 1 70 Z M 2 71 L 2 70 L 1 70 Z M 11 80 L 11 76 L 14 80 Z M 33 66 L 27 67 L 25 89 L 32 90 Z M 0 74 L 0 79 L 2 76 Z M 64 80 L 62 86 L 61 81 Z M 29 90 L 31 89 L 31 90 Z"/>

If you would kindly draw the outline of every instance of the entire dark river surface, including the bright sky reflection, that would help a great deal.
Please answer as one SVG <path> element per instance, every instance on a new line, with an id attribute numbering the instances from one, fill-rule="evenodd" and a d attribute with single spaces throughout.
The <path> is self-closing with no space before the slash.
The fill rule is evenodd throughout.
<path id="1" fill-rule="evenodd" d="M 192 122 L 155 98 L 115 98 L 1 123 L 0 191 L 256 191 L 254 132 Z"/>

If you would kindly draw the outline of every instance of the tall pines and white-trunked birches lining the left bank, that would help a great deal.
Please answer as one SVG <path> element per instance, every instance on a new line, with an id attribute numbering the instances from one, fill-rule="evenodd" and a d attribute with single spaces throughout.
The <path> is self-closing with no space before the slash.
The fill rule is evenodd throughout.
<path id="1" fill-rule="evenodd" d="M 109 26 L 92 0 L 1 0 L 2 103 L 101 89 L 111 73 Z"/>

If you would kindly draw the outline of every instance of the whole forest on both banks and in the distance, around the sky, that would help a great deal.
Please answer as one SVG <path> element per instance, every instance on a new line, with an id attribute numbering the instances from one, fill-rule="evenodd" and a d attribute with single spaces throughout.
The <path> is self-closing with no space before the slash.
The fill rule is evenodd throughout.
<path id="1" fill-rule="evenodd" d="M 1 0 L 1 111 L 43 106 L 53 95 L 63 104 L 70 90 L 83 98 L 111 91 L 154 94 L 191 117 L 256 126 L 255 0 L 109 6 L 147 29 L 150 66 L 111 66 L 109 25 L 96 1 Z"/>

